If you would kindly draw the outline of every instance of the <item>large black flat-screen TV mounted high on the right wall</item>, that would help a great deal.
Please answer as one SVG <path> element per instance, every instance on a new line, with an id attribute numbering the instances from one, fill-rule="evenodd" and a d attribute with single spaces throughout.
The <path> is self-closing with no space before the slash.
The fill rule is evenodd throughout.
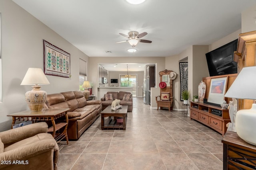
<path id="1" fill-rule="evenodd" d="M 205 54 L 210 76 L 237 73 L 237 63 L 234 61 L 237 42 L 238 39 Z"/>

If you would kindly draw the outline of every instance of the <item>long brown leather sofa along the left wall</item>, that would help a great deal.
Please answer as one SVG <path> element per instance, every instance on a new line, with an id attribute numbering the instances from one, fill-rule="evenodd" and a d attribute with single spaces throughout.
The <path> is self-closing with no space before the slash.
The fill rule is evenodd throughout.
<path id="1" fill-rule="evenodd" d="M 48 94 L 45 108 L 70 108 L 68 111 L 68 139 L 78 139 L 100 116 L 102 104 L 100 100 L 86 101 L 81 91 L 70 91 Z"/>

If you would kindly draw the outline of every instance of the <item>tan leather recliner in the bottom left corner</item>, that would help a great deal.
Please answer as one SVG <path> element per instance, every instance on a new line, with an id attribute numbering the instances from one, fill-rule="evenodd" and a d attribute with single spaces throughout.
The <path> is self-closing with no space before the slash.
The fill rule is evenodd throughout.
<path id="1" fill-rule="evenodd" d="M 45 122 L 0 132 L 0 169 L 56 170 L 59 148 Z"/>

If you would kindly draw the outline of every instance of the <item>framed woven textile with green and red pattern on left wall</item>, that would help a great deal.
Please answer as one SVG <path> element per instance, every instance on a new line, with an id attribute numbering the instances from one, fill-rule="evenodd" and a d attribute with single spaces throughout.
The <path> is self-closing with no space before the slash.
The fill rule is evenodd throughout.
<path id="1" fill-rule="evenodd" d="M 70 54 L 45 40 L 44 74 L 70 77 Z"/>

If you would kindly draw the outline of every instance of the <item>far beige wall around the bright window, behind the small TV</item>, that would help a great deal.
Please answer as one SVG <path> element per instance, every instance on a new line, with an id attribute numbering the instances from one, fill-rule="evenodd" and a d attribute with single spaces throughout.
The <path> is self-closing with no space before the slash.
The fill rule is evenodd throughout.
<path id="1" fill-rule="evenodd" d="M 127 74 L 127 72 L 122 72 L 122 71 L 110 71 L 108 72 L 108 86 L 110 87 L 111 85 L 114 86 L 120 86 L 120 74 Z M 143 86 L 143 81 L 144 81 L 144 71 L 129 71 L 129 75 L 136 74 L 137 75 L 137 97 L 142 97 L 142 86 Z M 118 83 L 110 83 L 111 78 L 116 78 L 118 79 Z"/>

